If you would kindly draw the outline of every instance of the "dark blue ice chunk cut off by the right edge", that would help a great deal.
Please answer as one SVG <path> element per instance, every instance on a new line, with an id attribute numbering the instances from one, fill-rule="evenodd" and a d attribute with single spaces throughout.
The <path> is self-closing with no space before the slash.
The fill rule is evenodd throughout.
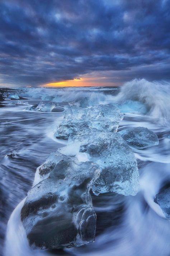
<path id="1" fill-rule="evenodd" d="M 154 202 L 159 204 L 165 217 L 170 219 L 170 187 L 158 193 Z"/>

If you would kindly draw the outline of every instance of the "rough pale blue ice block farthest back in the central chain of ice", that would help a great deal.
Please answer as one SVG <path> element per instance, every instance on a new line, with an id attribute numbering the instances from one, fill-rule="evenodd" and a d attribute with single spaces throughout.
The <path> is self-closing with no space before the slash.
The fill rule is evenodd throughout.
<path id="1" fill-rule="evenodd" d="M 98 105 L 79 107 L 68 105 L 64 107 L 63 122 L 58 125 L 55 136 L 61 139 L 69 138 L 80 130 L 95 129 L 105 132 L 116 132 L 123 114 L 114 105 Z"/>

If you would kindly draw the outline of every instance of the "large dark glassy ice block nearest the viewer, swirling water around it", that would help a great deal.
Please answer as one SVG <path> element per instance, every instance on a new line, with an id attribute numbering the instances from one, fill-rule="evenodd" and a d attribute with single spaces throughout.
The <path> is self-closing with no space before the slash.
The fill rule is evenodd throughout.
<path id="1" fill-rule="evenodd" d="M 70 248 L 93 242 L 96 215 L 89 191 L 99 177 L 99 166 L 60 153 L 51 159 L 58 163 L 45 180 L 29 190 L 21 211 L 30 245 Z"/>

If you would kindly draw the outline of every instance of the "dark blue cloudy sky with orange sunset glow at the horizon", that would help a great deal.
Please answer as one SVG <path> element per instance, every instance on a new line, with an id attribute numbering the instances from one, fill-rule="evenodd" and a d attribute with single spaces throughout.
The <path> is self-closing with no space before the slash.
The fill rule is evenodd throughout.
<path id="1" fill-rule="evenodd" d="M 170 0 L 0 0 L 0 86 L 170 80 Z"/>

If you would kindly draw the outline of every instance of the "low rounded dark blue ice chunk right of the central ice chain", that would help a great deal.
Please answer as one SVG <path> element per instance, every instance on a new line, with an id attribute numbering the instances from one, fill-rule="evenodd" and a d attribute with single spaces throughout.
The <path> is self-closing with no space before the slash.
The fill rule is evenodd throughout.
<path id="1" fill-rule="evenodd" d="M 128 145 L 136 149 L 144 149 L 159 144 L 157 135 L 145 127 L 135 127 L 119 132 Z"/>

